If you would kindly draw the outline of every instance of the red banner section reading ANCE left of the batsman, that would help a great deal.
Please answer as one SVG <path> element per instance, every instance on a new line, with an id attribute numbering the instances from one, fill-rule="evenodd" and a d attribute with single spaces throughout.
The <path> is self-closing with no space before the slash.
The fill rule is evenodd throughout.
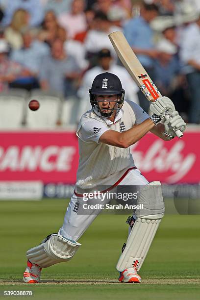
<path id="1" fill-rule="evenodd" d="M 74 132 L 0 132 L 0 180 L 74 184 L 77 166 Z"/>

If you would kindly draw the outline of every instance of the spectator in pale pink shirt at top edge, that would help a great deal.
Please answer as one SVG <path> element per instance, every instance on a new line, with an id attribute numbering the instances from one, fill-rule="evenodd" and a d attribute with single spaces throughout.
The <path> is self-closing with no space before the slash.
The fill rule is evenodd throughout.
<path id="1" fill-rule="evenodd" d="M 84 7 L 84 0 L 73 0 L 70 13 L 63 13 L 58 17 L 59 24 L 65 28 L 70 38 L 87 28 Z"/>

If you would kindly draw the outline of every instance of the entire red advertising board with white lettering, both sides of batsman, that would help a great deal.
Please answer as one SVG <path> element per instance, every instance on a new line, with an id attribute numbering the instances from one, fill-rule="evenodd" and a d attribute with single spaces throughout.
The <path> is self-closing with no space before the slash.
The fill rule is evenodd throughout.
<path id="1" fill-rule="evenodd" d="M 131 147 L 136 166 L 149 181 L 200 182 L 199 131 L 164 142 L 147 134 Z M 78 143 L 74 132 L 0 132 L 0 180 L 74 184 Z"/>

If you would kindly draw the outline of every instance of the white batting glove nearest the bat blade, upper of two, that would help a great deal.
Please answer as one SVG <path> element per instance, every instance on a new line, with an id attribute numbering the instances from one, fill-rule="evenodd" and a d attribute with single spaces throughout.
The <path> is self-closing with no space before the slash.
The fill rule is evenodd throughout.
<path id="1" fill-rule="evenodd" d="M 150 111 L 163 118 L 164 115 L 171 115 L 175 111 L 175 105 L 168 97 L 159 97 L 150 104 Z"/>

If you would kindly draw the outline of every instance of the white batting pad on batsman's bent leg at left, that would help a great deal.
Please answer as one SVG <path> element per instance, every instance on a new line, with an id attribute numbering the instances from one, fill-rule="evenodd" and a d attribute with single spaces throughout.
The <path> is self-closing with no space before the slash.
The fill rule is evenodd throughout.
<path id="1" fill-rule="evenodd" d="M 72 241 L 59 234 L 50 234 L 46 239 L 34 248 L 26 252 L 31 263 L 42 268 L 70 260 L 81 244 Z"/>

